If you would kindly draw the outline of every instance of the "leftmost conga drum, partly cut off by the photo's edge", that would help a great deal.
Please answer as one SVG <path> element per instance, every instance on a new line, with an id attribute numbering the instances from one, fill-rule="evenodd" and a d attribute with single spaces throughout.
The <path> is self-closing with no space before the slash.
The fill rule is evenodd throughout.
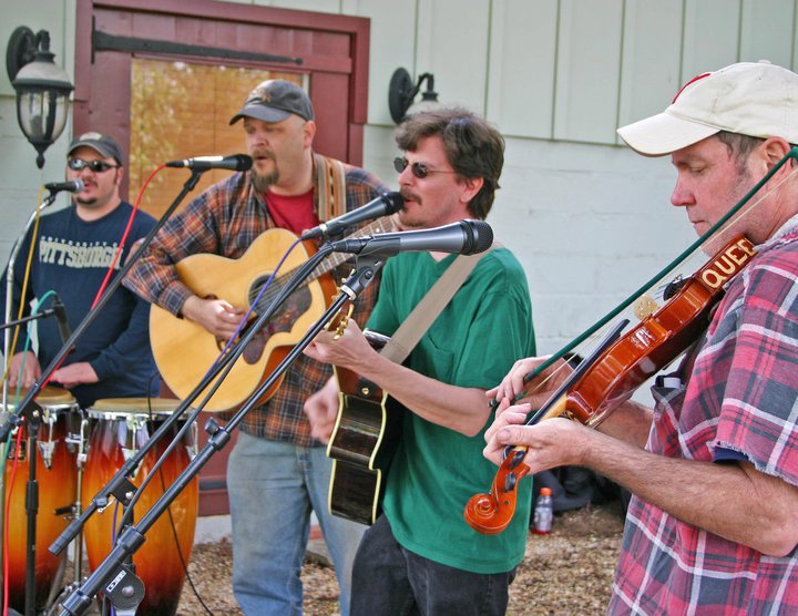
<path id="1" fill-rule="evenodd" d="M 9 392 L 8 411 L 16 411 L 16 404 L 28 394 L 23 391 L 16 400 L 14 391 Z M 37 515 L 35 551 L 35 607 L 37 612 L 45 607 L 48 595 L 57 582 L 59 565 L 66 553 L 53 556 L 48 551 L 50 544 L 66 528 L 69 520 L 57 515 L 55 510 L 71 507 L 78 491 L 78 461 L 74 444 L 68 443 L 70 429 L 80 425 L 78 404 L 65 389 L 44 387 L 35 397 L 42 408 L 37 437 L 37 483 L 39 485 L 39 512 Z M 20 613 L 24 612 L 25 565 L 28 554 L 28 514 L 25 512 L 25 492 L 29 473 L 28 430 L 21 428 L 20 449 L 17 451 L 17 434 L 12 437 L 9 455 L 6 460 L 4 492 L 8 503 L 8 564 L 9 564 L 9 605 Z M 14 469 L 16 466 L 16 469 Z M 13 475 L 13 483 L 11 478 Z"/>

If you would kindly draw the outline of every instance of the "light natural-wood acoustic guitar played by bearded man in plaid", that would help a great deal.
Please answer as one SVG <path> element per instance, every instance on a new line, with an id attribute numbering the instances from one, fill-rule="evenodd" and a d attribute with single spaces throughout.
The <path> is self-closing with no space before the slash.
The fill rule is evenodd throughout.
<path id="1" fill-rule="evenodd" d="M 391 229 L 391 219 L 382 217 L 359 229 L 357 235 Z M 238 259 L 197 254 L 180 260 L 175 265 L 177 277 L 198 297 L 222 298 L 234 306 L 250 306 L 296 239 L 296 236 L 286 229 L 268 229 L 260 234 Z M 291 250 L 282 267 L 285 274 L 276 276 L 258 299 L 255 315 L 272 305 L 313 250 L 310 243 L 301 243 Z M 291 347 L 324 315 L 330 299 L 336 295 L 336 284 L 329 271 L 350 257 L 351 255 L 334 253 L 313 270 L 285 301 L 279 314 L 249 341 L 204 410 L 234 410 L 255 393 Z M 244 329 L 242 336 L 246 331 Z M 217 340 L 200 324 L 177 318 L 154 304 L 150 310 L 150 340 L 164 382 L 180 399 L 186 398 L 194 390 L 226 345 L 225 340 Z M 280 381 L 269 388 L 260 401 L 268 400 Z M 205 392 L 197 399 L 203 400 Z"/>

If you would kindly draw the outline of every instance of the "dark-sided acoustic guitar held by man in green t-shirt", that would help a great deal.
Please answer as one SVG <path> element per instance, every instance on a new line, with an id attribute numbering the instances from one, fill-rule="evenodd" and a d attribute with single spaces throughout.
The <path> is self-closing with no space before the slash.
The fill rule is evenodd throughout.
<path id="1" fill-rule="evenodd" d="M 364 331 L 380 350 L 389 340 Z M 388 469 L 401 437 L 403 407 L 356 372 L 334 367 L 340 392 L 336 425 L 327 445 L 332 459 L 329 510 L 361 524 L 374 524 L 381 513 Z"/>

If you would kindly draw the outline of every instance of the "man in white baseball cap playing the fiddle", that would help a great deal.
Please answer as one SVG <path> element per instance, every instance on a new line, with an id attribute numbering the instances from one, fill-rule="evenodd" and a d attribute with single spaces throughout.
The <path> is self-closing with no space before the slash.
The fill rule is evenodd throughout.
<path id="1" fill-rule="evenodd" d="M 671 155 L 671 201 L 703 234 L 798 143 L 798 74 L 766 62 L 705 73 L 618 134 Z M 798 612 L 797 168 L 789 158 L 732 224 L 756 255 L 681 366 L 656 379 L 653 412 L 625 402 L 600 430 L 528 428 L 515 424 L 529 404 L 501 412 L 505 402 L 487 434 L 495 462 L 525 444 L 532 473 L 585 465 L 633 493 L 611 614 Z M 512 400 L 540 362 L 519 362 L 488 394 Z"/>

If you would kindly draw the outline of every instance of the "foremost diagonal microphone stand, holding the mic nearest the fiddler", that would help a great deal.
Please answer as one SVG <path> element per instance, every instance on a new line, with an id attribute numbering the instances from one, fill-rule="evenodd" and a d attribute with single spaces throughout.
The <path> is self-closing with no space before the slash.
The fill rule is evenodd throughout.
<path id="1" fill-rule="evenodd" d="M 361 265 L 361 261 L 366 261 Z M 303 350 L 321 331 L 327 322 L 340 310 L 347 301 L 354 301 L 360 292 L 374 280 L 377 270 L 382 266 L 383 258 L 379 255 L 368 259 L 358 257 L 356 270 L 341 286 L 341 292 L 332 301 L 327 311 L 318 319 L 301 338 L 301 340 L 286 355 L 275 371 L 264 381 L 247 402 L 222 428 L 215 421 L 208 421 L 206 430 L 209 439 L 203 450 L 191 461 L 175 482 L 164 492 L 142 520 L 125 531 L 117 538 L 115 547 L 103 559 L 100 566 L 86 578 L 80 588 L 75 589 L 62 604 L 61 616 L 80 615 L 91 605 L 92 597 L 103 589 L 117 609 L 135 609 L 144 595 L 144 586 L 123 561 L 141 547 L 146 541 L 144 534 L 157 521 L 174 499 L 194 479 L 207 461 L 221 451 L 231 439 L 231 433 L 244 420 L 246 414 L 259 402 L 260 398 L 274 386 L 283 373 L 296 361 Z M 104 585 L 104 588 L 103 588 Z"/>

